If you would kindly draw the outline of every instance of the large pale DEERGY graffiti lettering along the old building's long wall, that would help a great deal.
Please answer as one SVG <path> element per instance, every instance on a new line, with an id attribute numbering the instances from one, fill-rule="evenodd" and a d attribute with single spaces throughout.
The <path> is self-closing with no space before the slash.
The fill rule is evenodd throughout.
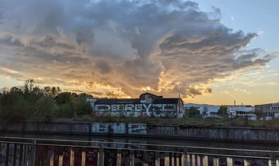
<path id="1" fill-rule="evenodd" d="M 106 113 L 113 116 L 134 116 L 139 117 L 146 113 L 150 117 L 176 118 L 176 104 L 97 104 L 95 112 L 98 116 L 105 116 Z M 179 117 L 183 115 L 183 108 L 178 112 Z M 181 115 L 180 115 L 181 114 Z"/>

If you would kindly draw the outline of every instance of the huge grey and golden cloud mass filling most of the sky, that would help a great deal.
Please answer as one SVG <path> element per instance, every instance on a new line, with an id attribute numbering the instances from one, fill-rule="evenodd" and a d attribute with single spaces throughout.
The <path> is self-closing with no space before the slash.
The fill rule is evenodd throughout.
<path id="1" fill-rule="evenodd" d="M 191 1 L 10 0 L 0 6 L 0 75 L 40 77 L 37 83 L 99 96 L 138 97 L 145 89 L 193 98 L 213 92 L 208 82 L 277 56 L 246 49 L 263 32 L 234 32 L 220 23 L 220 9 L 203 12 Z"/>

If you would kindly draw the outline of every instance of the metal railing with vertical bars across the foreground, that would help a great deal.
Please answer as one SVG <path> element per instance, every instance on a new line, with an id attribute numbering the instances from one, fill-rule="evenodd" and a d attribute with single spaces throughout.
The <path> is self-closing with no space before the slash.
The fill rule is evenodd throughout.
<path id="1" fill-rule="evenodd" d="M 241 161 L 243 161 L 246 165 L 253 165 L 251 164 L 253 162 L 262 162 L 265 164 L 268 163 L 267 165 L 270 166 L 276 166 L 278 165 L 279 159 L 279 151 L 140 143 L 0 137 L 0 144 L 0 166 L 56 166 L 57 164 L 63 166 L 65 165 L 64 159 L 65 161 L 69 160 L 70 165 L 76 164 L 85 166 L 88 165 L 86 162 L 88 161 L 87 157 L 90 157 L 90 155 L 91 157 L 93 156 L 91 159 L 94 159 L 98 166 L 109 164 L 120 166 L 125 165 L 123 164 L 124 162 L 126 162 L 126 165 L 128 162 L 130 165 L 136 166 L 134 163 L 138 161 L 139 163 L 148 163 L 148 165 L 153 165 L 157 162 L 160 163 L 160 166 L 210 166 L 210 163 L 214 161 L 216 163 L 219 162 L 219 164 L 215 164 L 214 166 L 227 165 L 229 161 L 234 163 L 241 163 Z M 70 154 L 70 157 L 68 154 Z M 81 158 L 78 156 L 81 156 Z M 5 163 L 2 162 L 4 161 L 3 158 Z M 121 158 L 126 159 L 122 160 Z M 200 160 L 198 160 L 198 158 Z M 137 161 L 135 161 L 136 159 Z M 9 163 L 7 164 L 6 162 Z M 76 162 L 80 163 L 77 164 Z M 220 162 L 223 163 L 220 164 Z"/>

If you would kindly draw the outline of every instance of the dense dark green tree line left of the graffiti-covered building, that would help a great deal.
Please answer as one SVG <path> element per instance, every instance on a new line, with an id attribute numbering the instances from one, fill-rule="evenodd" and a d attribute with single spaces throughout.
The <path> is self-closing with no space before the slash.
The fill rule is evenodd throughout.
<path id="1" fill-rule="evenodd" d="M 72 118 L 91 114 L 88 101 L 75 97 L 93 97 L 87 93 L 62 92 L 60 87 L 40 88 L 34 79 L 25 80 L 21 88 L 12 87 L 0 92 L 0 121 L 38 120 L 52 121 L 55 118 Z"/>

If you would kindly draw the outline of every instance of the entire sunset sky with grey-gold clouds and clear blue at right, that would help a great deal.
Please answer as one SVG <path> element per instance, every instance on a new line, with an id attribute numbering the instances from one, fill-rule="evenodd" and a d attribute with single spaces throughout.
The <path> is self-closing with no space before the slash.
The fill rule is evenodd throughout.
<path id="1" fill-rule="evenodd" d="M 279 100 L 278 1 L 0 0 L 0 87 Z"/>

